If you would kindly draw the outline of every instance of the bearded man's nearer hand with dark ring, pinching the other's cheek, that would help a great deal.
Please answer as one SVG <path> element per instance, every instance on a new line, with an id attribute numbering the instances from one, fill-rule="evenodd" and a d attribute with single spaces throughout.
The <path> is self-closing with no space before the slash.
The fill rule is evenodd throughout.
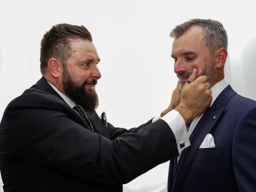
<path id="1" fill-rule="evenodd" d="M 202 114 L 211 104 L 212 91 L 206 76 L 196 78 L 198 70 L 194 69 L 182 88 L 180 104 L 175 108 L 184 118 L 186 124 Z"/>

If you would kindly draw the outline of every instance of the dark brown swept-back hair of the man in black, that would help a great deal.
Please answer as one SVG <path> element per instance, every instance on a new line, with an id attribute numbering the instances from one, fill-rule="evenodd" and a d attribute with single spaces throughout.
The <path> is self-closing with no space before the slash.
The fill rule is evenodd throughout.
<path id="1" fill-rule="evenodd" d="M 44 34 L 40 50 L 40 70 L 42 75 L 46 73 L 50 58 L 58 59 L 63 68 L 66 67 L 66 62 L 71 55 L 70 42 L 77 39 L 92 42 L 92 36 L 84 26 L 66 23 L 57 24 Z"/>

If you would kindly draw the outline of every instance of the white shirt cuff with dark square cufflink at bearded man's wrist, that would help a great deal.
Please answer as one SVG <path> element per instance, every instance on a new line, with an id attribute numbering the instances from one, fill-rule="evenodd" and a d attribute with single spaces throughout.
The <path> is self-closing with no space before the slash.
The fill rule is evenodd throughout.
<path id="1" fill-rule="evenodd" d="M 190 146 L 186 123 L 178 111 L 171 110 L 161 119 L 170 126 L 176 138 L 176 144 L 179 152 Z"/>

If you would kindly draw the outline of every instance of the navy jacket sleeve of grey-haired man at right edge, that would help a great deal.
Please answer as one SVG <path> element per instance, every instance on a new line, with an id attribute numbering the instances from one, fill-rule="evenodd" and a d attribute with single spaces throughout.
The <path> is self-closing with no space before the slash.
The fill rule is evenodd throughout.
<path id="1" fill-rule="evenodd" d="M 244 112 L 234 134 L 232 159 L 240 192 L 256 191 L 256 106 Z"/>

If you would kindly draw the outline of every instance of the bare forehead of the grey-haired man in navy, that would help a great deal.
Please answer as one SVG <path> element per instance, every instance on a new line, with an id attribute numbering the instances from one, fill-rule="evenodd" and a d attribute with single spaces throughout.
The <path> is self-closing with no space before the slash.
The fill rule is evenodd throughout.
<path id="1" fill-rule="evenodd" d="M 201 39 L 202 27 L 192 26 L 182 36 L 175 38 L 172 44 L 172 54 L 179 52 L 196 52 L 200 51 L 206 46 L 202 43 Z"/>

